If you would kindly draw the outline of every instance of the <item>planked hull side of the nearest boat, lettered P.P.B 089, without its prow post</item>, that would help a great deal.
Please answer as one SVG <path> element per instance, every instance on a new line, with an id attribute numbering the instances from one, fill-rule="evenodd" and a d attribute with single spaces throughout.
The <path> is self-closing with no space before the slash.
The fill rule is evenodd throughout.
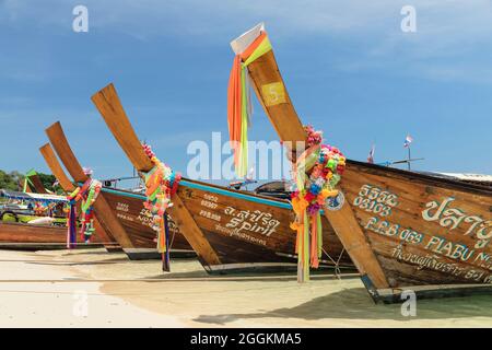
<path id="1" fill-rule="evenodd" d="M 390 289 L 492 283 L 490 189 L 353 161 L 340 187 Z"/>

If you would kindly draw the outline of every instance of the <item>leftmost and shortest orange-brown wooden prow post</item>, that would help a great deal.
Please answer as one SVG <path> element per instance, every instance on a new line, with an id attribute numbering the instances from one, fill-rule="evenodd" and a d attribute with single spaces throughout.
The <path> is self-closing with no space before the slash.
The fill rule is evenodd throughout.
<path id="1" fill-rule="evenodd" d="M 39 152 L 42 153 L 43 158 L 46 161 L 46 164 L 48 165 L 51 173 L 55 175 L 55 177 L 60 183 L 61 188 L 70 194 L 75 189 L 75 186 L 72 184 L 70 178 L 65 173 L 63 168 L 61 167 L 60 162 L 58 162 L 58 159 L 55 154 L 55 151 L 52 150 L 51 145 L 49 143 L 46 143 L 39 148 Z M 115 237 L 113 237 L 101 224 L 101 222 L 97 220 L 97 218 L 94 218 L 94 229 L 95 229 L 95 235 L 98 236 L 102 242 L 115 242 Z M 115 244 L 107 245 L 108 248 L 113 249 Z"/>

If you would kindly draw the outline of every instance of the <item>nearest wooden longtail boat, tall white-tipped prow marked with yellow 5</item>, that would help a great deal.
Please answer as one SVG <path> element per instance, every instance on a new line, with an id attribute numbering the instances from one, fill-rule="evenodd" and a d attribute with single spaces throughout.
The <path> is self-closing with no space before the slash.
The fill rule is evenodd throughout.
<path id="1" fill-rule="evenodd" d="M 262 33 L 260 24 L 234 40 L 236 55 Z M 280 139 L 294 149 L 306 141 L 273 50 L 247 70 Z M 350 161 L 340 189 L 344 205 L 325 215 L 375 301 L 398 301 L 405 290 L 421 296 L 492 291 L 490 188 Z"/>

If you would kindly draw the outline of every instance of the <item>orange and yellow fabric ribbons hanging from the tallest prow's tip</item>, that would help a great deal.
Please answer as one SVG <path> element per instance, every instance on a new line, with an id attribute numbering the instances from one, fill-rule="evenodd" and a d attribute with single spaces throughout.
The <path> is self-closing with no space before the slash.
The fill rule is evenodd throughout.
<path id="1" fill-rule="evenodd" d="M 243 54 L 236 55 L 229 78 L 227 125 L 234 165 L 239 177 L 246 176 L 248 161 L 248 126 L 251 121 L 249 75 L 247 67 L 271 50 L 267 33 L 261 33 Z"/>

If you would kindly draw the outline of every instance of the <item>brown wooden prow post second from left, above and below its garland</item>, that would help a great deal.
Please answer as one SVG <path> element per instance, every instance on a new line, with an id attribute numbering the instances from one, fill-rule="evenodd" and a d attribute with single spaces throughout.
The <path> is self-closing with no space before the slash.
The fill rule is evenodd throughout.
<path id="1" fill-rule="evenodd" d="M 61 128 L 59 121 L 47 128 L 46 133 L 51 142 L 58 158 L 63 163 L 67 171 L 73 177 L 77 183 L 84 183 L 87 176 L 84 174 L 82 166 L 75 158 L 70 144 L 68 143 L 67 137 Z M 97 220 L 104 228 L 104 231 L 108 232 L 113 237 L 115 237 L 122 248 L 133 248 L 133 244 L 128 237 L 124 226 L 114 214 L 104 194 L 101 192 L 97 200 L 94 203 L 94 211 Z"/>

